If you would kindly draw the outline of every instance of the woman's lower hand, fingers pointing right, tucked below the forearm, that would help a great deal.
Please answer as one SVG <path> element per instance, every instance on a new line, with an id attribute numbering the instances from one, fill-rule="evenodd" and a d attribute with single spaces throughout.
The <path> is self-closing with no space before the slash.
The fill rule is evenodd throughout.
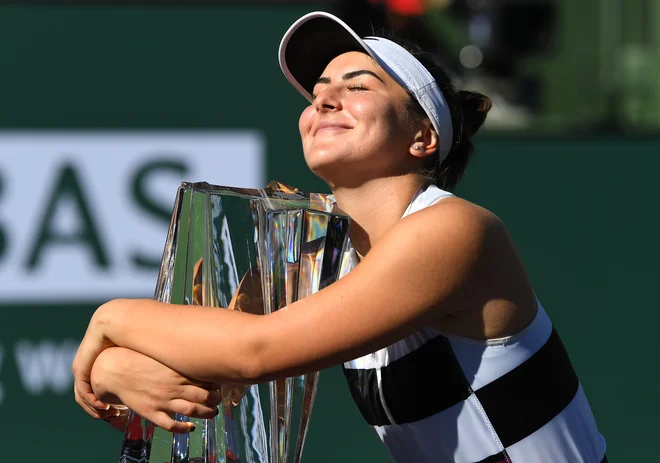
<path id="1" fill-rule="evenodd" d="M 123 404 L 175 433 L 187 433 L 193 427 L 192 423 L 174 420 L 175 413 L 214 418 L 222 402 L 218 387 L 185 378 L 150 357 L 121 347 L 108 348 L 98 356 L 91 383 L 94 395 L 102 402 Z M 121 416 L 107 421 L 116 428 L 122 423 Z"/>

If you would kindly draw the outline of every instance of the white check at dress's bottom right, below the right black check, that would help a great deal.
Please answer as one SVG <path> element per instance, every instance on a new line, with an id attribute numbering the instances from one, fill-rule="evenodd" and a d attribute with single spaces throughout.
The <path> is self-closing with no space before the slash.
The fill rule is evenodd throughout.
<path id="1" fill-rule="evenodd" d="M 549 423 L 507 448 L 511 460 L 525 463 L 600 463 L 605 440 L 598 432 L 582 386 Z"/>

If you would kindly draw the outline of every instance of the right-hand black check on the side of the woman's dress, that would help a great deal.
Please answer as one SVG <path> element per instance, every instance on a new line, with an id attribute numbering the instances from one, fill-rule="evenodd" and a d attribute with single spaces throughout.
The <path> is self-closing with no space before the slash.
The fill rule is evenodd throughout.
<path id="1" fill-rule="evenodd" d="M 475 391 L 502 445 L 540 429 L 573 400 L 575 370 L 557 332 L 523 364 Z"/>

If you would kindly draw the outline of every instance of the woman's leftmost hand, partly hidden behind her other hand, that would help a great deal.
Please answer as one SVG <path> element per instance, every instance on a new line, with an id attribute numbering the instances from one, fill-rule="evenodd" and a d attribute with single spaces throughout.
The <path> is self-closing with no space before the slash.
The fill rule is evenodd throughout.
<path id="1" fill-rule="evenodd" d="M 102 325 L 107 322 L 105 317 L 111 312 L 111 303 L 99 307 L 87 326 L 85 336 L 73 359 L 72 371 L 74 377 L 74 395 L 83 409 L 92 417 L 107 419 L 116 416 L 116 410 L 101 402 L 92 390 L 91 373 L 94 361 L 105 349 L 114 344 L 103 333 Z M 104 321 L 101 321 L 102 317 Z"/>

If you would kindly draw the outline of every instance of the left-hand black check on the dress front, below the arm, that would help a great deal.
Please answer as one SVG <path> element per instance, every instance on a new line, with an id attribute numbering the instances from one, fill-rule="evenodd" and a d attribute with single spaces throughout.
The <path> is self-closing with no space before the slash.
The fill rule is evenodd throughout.
<path id="1" fill-rule="evenodd" d="M 376 370 L 345 368 L 344 374 L 367 423 L 391 424 L 378 393 Z M 470 386 L 444 336 L 381 368 L 381 387 L 387 408 L 398 424 L 435 415 L 470 395 Z"/>

